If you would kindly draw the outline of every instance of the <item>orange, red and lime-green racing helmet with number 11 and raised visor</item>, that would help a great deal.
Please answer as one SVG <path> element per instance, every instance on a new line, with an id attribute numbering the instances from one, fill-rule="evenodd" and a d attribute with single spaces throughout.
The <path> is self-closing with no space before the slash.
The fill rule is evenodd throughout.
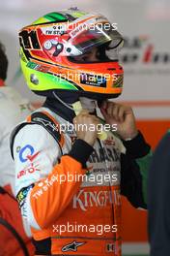
<path id="1" fill-rule="evenodd" d="M 55 91 L 61 98 L 115 98 L 123 89 L 123 42 L 105 16 L 77 8 L 50 13 L 19 31 L 21 69 L 29 88 L 42 96 Z M 98 61 L 78 60 L 94 48 Z"/>

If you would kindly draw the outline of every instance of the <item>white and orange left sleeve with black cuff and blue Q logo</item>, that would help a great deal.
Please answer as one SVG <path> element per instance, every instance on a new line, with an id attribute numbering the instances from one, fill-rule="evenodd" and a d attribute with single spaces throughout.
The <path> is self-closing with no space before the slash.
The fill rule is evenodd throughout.
<path id="1" fill-rule="evenodd" d="M 28 124 L 16 134 L 15 194 L 22 215 L 33 228 L 47 228 L 68 207 L 81 184 L 75 176 L 85 174 L 93 149 L 76 140 L 69 153 L 61 156 L 56 141 L 38 124 Z"/>

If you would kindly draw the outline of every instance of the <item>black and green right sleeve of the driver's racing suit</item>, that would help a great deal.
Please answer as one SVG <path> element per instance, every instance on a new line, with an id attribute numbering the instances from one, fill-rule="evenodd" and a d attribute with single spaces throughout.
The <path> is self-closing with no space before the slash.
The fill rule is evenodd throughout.
<path id="1" fill-rule="evenodd" d="M 123 142 L 127 148 L 121 155 L 122 178 L 121 193 L 135 208 L 147 208 L 148 170 L 152 158 L 152 150 L 145 142 L 143 135 L 131 141 Z"/>

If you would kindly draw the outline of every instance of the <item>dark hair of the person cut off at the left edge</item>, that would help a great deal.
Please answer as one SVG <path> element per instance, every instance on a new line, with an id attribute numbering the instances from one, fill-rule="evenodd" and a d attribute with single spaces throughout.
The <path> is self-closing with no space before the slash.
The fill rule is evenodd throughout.
<path id="1" fill-rule="evenodd" d="M 8 58 L 5 53 L 5 47 L 0 43 L 0 79 L 7 79 L 7 69 L 8 69 Z"/>

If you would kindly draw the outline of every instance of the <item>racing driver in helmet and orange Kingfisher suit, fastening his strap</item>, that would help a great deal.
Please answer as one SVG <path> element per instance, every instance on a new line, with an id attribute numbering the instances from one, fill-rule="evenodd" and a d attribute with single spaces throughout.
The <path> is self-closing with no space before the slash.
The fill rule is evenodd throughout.
<path id="1" fill-rule="evenodd" d="M 121 194 L 147 207 L 151 158 L 131 108 L 110 101 L 123 88 L 123 37 L 105 16 L 72 8 L 22 28 L 19 42 L 25 80 L 46 97 L 11 140 L 35 254 L 121 256 Z"/>

